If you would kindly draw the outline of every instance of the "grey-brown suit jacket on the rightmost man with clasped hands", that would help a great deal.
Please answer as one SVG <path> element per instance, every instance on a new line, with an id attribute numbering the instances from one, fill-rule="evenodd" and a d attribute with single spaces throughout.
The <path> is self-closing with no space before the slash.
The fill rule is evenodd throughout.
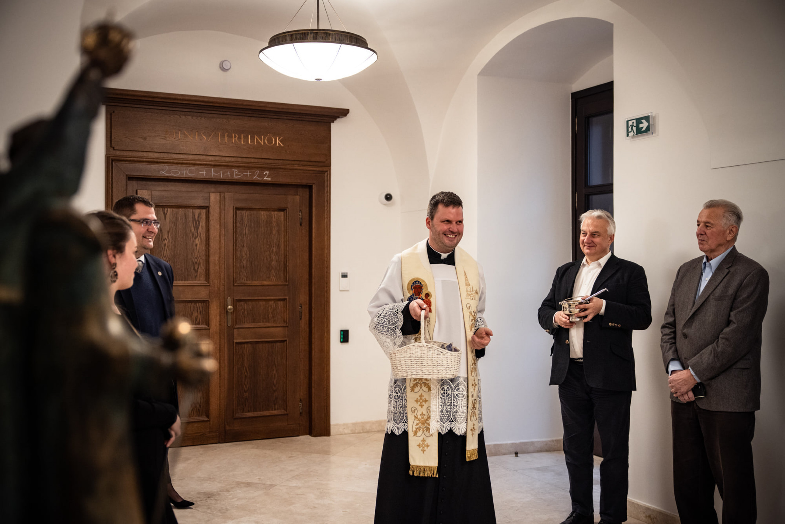
<path id="1" fill-rule="evenodd" d="M 712 411 L 761 409 L 761 331 L 769 273 L 736 247 L 696 300 L 703 257 L 683 264 L 670 291 L 660 347 L 706 385 L 696 402 Z"/>

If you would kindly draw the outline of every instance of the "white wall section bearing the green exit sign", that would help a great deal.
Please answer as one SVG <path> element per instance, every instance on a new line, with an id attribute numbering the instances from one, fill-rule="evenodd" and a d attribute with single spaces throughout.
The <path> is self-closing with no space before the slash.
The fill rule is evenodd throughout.
<path id="1" fill-rule="evenodd" d="M 781 416 L 785 369 L 774 329 L 785 306 L 780 269 L 785 233 L 772 225 L 781 222 L 785 162 L 710 169 L 708 134 L 674 57 L 637 20 L 616 24 L 614 35 L 616 254 L 646 268 L 654 318 L 652 327 L 634 338 L 638 391 L 633 394 L 630 432 L 630 497 L 675 509 L 670 486 L 670 405 L 665 400 L 659 326 L 676 269 L 701 255 L 695 239 L 701 205 L 726 198 L 745 213 L 739 251 L 768 269 L 772 280 L 753 449 L 758 522 L 777 522 L 785 515 L 780 497 L 785 458 L 778 444 L 785 431 Z M 623 117 L 648 111 L 659 114 L 659 134 L 626 141 Z"/>

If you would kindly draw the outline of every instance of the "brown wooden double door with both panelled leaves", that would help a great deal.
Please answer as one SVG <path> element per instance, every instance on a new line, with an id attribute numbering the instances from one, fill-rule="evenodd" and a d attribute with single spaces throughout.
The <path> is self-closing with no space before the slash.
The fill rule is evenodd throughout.
<path id="1" fill-rule="evenodd" d="M 175 310 L 214 344 L 219 370 L 181 391 L 184 445 L 309 433 L 309 189 L 138 179 L 155 203 L 152 255 Z M 190 400 L 190 402 L 188 402 Z"/>

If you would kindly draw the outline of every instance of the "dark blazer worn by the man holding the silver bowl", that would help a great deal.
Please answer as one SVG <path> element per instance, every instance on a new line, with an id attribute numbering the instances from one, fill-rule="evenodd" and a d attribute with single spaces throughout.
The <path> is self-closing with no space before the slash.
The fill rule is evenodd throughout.
<path id="1" fill-rule="evenodd" d="M 560 384 L 570 364 L 569 330 L 553 328 L 553 313 L 561 310 L 559 302 L 569 299 L 575 277 L 583 259 L 569 262 L 556 270 L 553 284 L 539 308 L 539 324 L 553 335 L 550 383 Z M 583 370 L 586 383 L 606 390 L 635 390 L 633 329 L 652 324 L 652 301 L 648 295 L 646 273 L 634 262 L 611 255 L 594 281 L 592 294 L 608 288 L 601 295 L 605 314 L 583 325 Z"/>

